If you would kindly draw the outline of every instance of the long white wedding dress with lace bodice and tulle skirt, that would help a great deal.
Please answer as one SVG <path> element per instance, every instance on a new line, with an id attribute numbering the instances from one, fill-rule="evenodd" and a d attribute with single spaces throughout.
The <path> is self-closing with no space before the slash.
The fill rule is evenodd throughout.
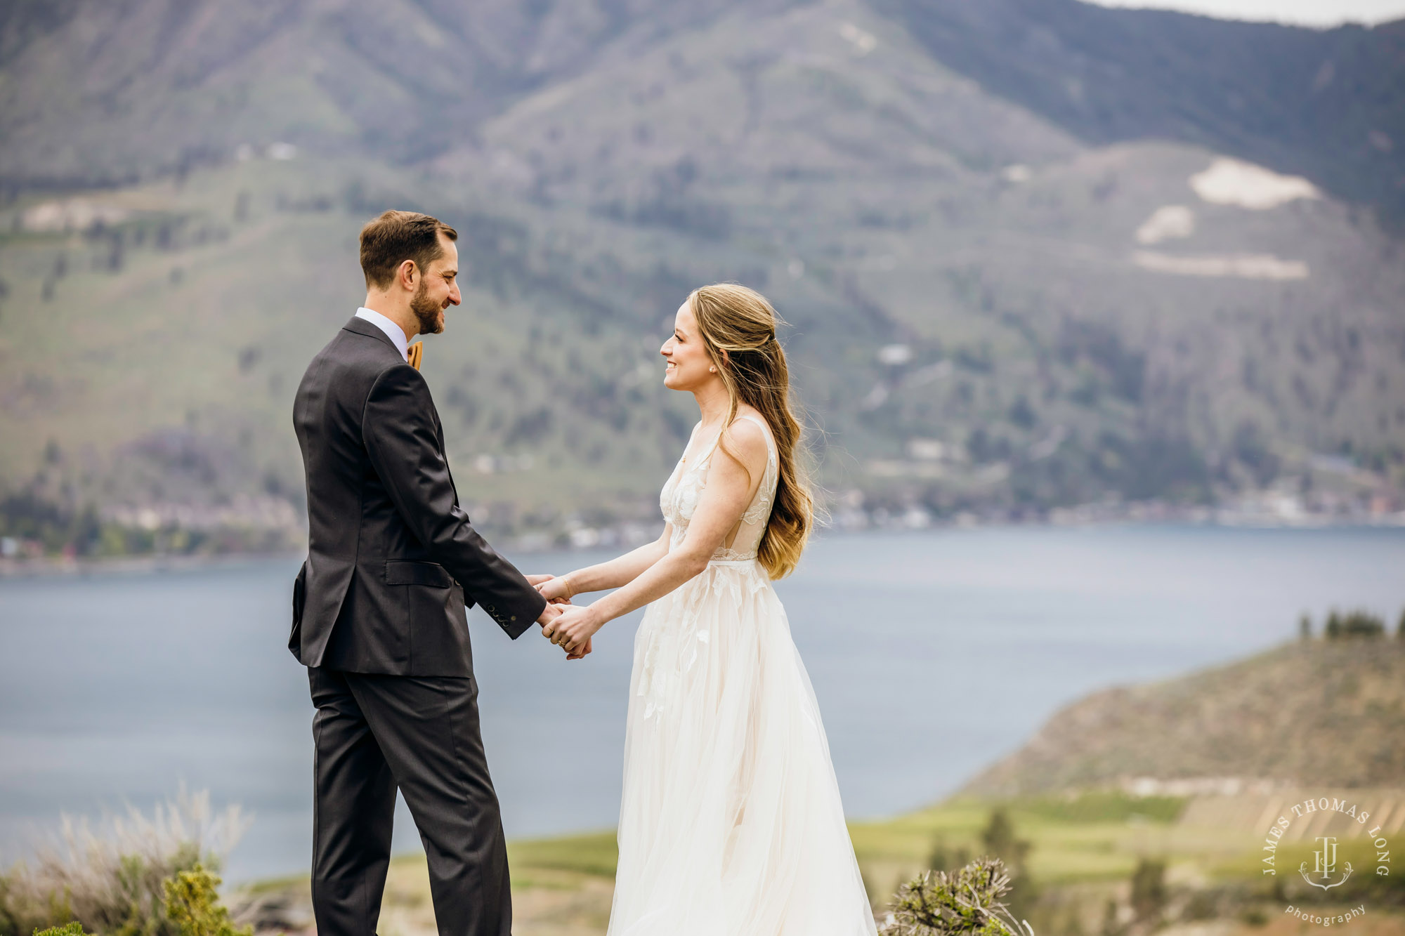
<path id="1" fill-rule="evenodd" d="M 742 419 L 766 431 L 769 458 L 740 528 L 635 635 L 608 936 L 875 933 L 815 691 L 756 559 L 776 443 Z M 670 548 L 715 450 L 663 486 Z"/>

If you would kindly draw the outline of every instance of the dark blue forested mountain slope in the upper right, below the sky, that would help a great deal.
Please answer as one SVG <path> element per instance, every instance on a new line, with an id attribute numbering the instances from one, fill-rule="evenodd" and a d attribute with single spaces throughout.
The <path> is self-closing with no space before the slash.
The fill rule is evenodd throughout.
<path id="1" fill-rule="evenodd" d="M 1405 21 L 1302 30 L 1076 0 L 875 7 L 947 66 L 1092 143 L 1196 143 L 1405 221 Z"/>

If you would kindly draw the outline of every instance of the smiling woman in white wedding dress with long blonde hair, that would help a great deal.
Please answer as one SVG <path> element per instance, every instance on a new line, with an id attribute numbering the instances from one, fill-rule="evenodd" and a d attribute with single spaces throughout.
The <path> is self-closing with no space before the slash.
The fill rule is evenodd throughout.
<path id="1" fill-rule="evenodd" d="M 778 316 L 739 285 L 694 291 L 660 353 L 701 422 L 663 485 L 656 542 L 541 582 L 579 658 L 649 604 L 634 641 L 608 936 L 857 936 L 873 911 L 809 676 L 771 580 L 812 526 Z"/>

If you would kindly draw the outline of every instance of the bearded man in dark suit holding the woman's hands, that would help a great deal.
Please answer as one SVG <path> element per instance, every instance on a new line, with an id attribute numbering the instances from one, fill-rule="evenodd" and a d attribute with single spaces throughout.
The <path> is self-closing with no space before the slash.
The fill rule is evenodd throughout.
<path id="1" fill-rule="evenodd" d="M 365 306 L 312 358 L 292 406 L 311 528 L 288 648 L 316 706 L 319 936 L 374 936 L 396 787 L 424 842 L 438 932 L 511 932 L 465 606 L 511 638 L 561 609 L 459 507 L 434 401 L 409 363 L 409 339 L 443 332 L 461 301 L 457 239 L 409 211 L 361 229 Z"/>

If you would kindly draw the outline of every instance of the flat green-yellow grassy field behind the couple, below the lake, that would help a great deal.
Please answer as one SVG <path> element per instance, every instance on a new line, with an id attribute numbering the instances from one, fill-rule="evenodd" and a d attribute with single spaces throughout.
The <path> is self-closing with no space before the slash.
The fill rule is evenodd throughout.
<path id="1" fill-rule="evenodd" d="M 1161 929 L 1204 926 L 1217 932 L 1256 932 L 1274 922 L 1286 902 L 1324 914 L 1342 901 L 1322 901 L 1293 891 L 1298 862 L 1311 864 L 1311 845 L 1283 850 L 1284 885 L 1274 887 L 1259 870 L 1257 836 L 1234 825 L 1197 826 L 1183 818 L 1182 797 L 1131 797 L 1100 791 L 1006 801 L 953 798 L 926 810 L 884 821 L 851 822 L 854 850 L 875 908 L 887 905 L 898 884 L 926 870 L 941 847 L 948 859 L 984 853 L 981 833 L 992 811 L 1002 808 L 1019 839 L 1028 842 L 1027 874 L 1037 895 L 1028 916 L 1038 933 L 1139 933 L 1142 923 L 1107 922 L 1109 901 L 1128 905 L 1130 880 L 1142 859 L 1163 860 L 1165 906 Z M 1367 869 L 1373 857 L 1357 846 L 1342 852 Z M 604 932 L 613 892 L 613 832 L 525 839 L 509 843 L 513 871 L 514 932 L 524 936 L 587 936 Z M 1361 881 L 1359 881 L 1361 883 Z M 1373 936 L 1405 930 L 1405 891 L 1364 881 L 1349 899 L 1373 908 Z M 256 885 L 244 892 L 306 894 L 306 878 Z M 236 898 L 237 902 L 237 898 Z M 1123 915 L 1130 909 L 1120 911 Z M 1333 911 L 1335 912 L 1335 911 Z M 1293 921 L 1295 925 L 1295 921 Z M 1111 929 L 1107 929 L 1111 926 Z M 1138 929 L 1138 926 L 1141 929 Z M 1168 930 L 1168 932 L 1170 932 Z M 405 854 L 392 862 L 382 933 L 417 936 L 433 932 L 433 906 L 424 857 Z M 1283 930 L 1286 933 L 1295 929 Z M 1354 930 L 1353 930 L 1354 932 Z"/>

